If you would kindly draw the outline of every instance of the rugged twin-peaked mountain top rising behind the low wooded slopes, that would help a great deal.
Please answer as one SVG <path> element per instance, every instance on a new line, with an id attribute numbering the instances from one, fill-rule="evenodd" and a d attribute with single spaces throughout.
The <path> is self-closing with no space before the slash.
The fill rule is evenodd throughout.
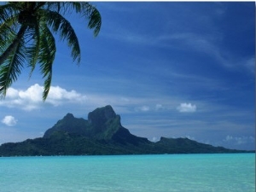
<path id="1" fill-rule="evenodd" d="M 45 131 L 44 138 L 57 134 L 72 133 L 83 137 L 114 141 L 117 143 L 147 143 L 148 139 L 136 137 L 121 125 L 120 116 L 110 105 L 96 108 L 88 114 L 88 120 L 78 119 L 72 113 L 59 120 L 52 128 Z"/>

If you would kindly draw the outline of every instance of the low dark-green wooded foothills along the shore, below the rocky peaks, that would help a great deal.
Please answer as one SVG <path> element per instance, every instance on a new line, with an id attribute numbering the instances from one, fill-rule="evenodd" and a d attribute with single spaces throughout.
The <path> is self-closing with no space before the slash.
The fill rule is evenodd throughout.
<path id="1" fill-rule="evenodd" d="M 178 144 L 180 143 L 180 144 Z M 183 144 L 184 145 L 183 145 Z M 248 153 L 196 143 L 186 138 L 167 139 L 158 143 L 119 143 L 113 140 L 97 140 L 91 137 L 55 132 L 49 138 L 27 139 L 21 143 L 4 143 L 0 156 L 34 155 L 100 155 L 100 154 L 219 154 Z M 253 151 L 252 151 L 253 152 Z M 254 153 L 254 152 L 253 152 Z"/>

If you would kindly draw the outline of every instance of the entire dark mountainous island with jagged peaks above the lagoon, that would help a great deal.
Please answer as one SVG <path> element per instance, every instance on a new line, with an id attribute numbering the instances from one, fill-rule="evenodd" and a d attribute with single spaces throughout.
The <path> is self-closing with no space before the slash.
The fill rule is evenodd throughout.
<path id="1" fill-rule="evenodd" d="M 84 155 L 84 154 L 212 154 L 246 153 L 213 147 L 188 138 L 161 137 L 153 143 L 123 127 L 119 114 L 110 105 L 88 113 L 88 119 L 67 113 L 44 133 L 44 137 L 21 143 L 3 143 L 0 156 Z"/>

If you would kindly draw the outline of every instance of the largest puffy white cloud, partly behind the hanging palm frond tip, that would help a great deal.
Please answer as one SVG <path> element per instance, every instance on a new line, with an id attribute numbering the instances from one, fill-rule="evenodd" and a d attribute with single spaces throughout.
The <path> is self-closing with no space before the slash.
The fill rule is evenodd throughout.
<path id="1" fill-rule="evenodd" d="M 44 105 L 42 94 L 44 87 L 39 84 L 33 84 L 27 90 L 15 90 L 9 88 L 4 100 L 0 101 L 0 106 L 8 108 L 21 108 L 26 111 L 41 108 Z M 81 103 L 87 101 L 87 96 L 78 93 L 75 90 L 65 90 L 59 86 L 51 86 L 49 95 L 45 103 L 53 106 L 59 106 L 63 103 Z"/>

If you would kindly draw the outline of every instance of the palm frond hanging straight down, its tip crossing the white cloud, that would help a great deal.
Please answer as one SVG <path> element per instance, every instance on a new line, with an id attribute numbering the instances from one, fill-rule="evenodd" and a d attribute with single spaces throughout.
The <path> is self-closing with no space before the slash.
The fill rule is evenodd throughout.
<path id="1" fill-rule="evenodd" d="M 52 33 L 49 31 L 47 26 L 44 26 L 40 36 L 40 53 L 38 55 L 38 62 L 40 63 L 41 73 L 44 80 L 44 92 L 43 100 L 45 101 L 51 84 L 52 79 L 52 65 L 55 60 L 55 38 Z"/>

